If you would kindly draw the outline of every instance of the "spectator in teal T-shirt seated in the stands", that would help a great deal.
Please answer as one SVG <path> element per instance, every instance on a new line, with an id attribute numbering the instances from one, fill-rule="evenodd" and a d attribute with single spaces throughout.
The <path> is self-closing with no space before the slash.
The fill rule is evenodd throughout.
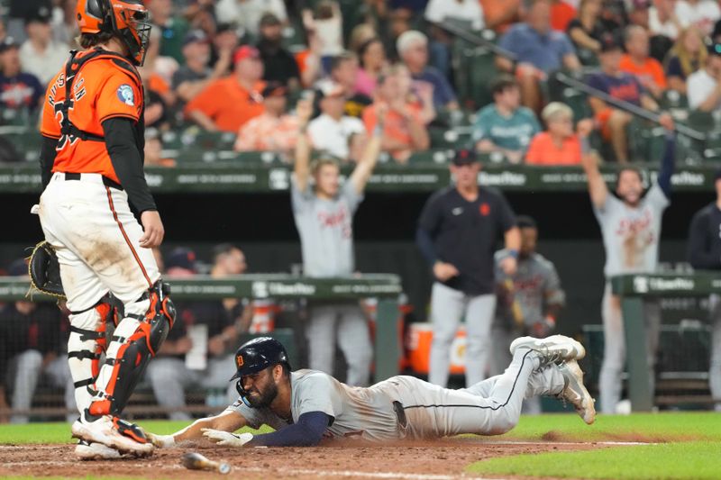
<path id="1" fill-rule="evenodd" d="M 541 125 L 530 109 L 520 106 L 521 93 L 513 77 L 497 77 L 491 92 L 493 104 L 479 110 L 473 125 L 476 149 L 484 153 L 501 152 L 511 163 L 520 163 Z"/>

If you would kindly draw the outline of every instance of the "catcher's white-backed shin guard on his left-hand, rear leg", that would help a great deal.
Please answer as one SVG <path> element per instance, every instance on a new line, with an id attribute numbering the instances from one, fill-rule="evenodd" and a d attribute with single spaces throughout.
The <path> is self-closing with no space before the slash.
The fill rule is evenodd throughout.
<path id="1" fill-rule="evenodd" d="M 70 312 L 68 338 L 68 367 L 75 383 L 75 402 L 78 411 L 90 406 L 96 391 L 100 357 L 105 353 L 105 328 L 114 322 L 116 308 L 104 297 L 100 302 L 81 312 Z"/>

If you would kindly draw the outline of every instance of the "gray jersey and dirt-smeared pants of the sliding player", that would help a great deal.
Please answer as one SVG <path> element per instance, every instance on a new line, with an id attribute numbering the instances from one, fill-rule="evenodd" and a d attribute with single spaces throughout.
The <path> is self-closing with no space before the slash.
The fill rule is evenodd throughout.
<path id="1" fill-rule="evenodd" d="M 536 352 L 519 349 L 503 375 L 461 390 L 415 376 L 352 387 L 323 372 L 298 370 L 290 374 L 290 412 L 294 423 L 308 412 L 330 416 L 326 438 L 383 441 L 501 434 L 516 425 L 525 397 L 561 393 L 564 381 L 558 367 L 538 366 Z M 240 413 L 253 429 L 265 424 L 280 430 L 289 424 L 269 408 L 252 408 L 240 400 L 227 411 Z"/>

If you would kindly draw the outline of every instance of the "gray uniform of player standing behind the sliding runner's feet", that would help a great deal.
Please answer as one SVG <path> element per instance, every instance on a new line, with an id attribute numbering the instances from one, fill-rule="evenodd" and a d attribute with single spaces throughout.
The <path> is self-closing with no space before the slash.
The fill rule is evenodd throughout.
<path id="1" fill-rule="evenodd" d="M 508 352 L 511 341 L 524 335 L 533 335 L 532 327 L 537 322 L 543 322 L 548 306 L 562 306 L 566 301 L 556 267 L 539 253 L 518 258 L 516 275 L 510 278 L 513 282 L 513 294 L 509 297 L 506 285 L 509 278 L 500 267 L 500 262 L 506 256 L 507 250 L 498 250 L 495 255 L 498 291 L 503 294 L 498 295 L 496 320 L 492 331 L 494 373 L 500 373 L 503 366 L 511 361 Z M 514 303 L 521 314 L 523 325 L 517 324 L 512 307 Z M 539 398 L 529 398 L 524 403 L 524 412 L 540 413 Z"/>

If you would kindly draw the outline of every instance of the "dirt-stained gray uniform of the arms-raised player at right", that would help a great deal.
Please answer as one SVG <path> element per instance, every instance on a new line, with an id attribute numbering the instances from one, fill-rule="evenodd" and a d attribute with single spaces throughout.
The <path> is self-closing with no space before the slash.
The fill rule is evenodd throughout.
<path id="1" fill-rule="evenodd" d="M 614 195 L 607 195 L 606 204 L 594 208 L 606 249 L 606 291 L 603 296 L 604 330 L 603 365 L 598 381 L 601 412 L 616 412 L 621 398 L 621 374 L 625 364 L 624 324 L 619 298 L 611 294 L 611 276 L 629 273 L 652 273 L 658 267 L 661 219 L 669 199 L 654 183 L 636 208 L 626 206 Z M 657 301 L 643 305 L 643 321 L 648 332 L 648 364 L 653 368 L 659 340 L 661 309 Z M 653 378 L 653 376 L 652 376 Z"/>

